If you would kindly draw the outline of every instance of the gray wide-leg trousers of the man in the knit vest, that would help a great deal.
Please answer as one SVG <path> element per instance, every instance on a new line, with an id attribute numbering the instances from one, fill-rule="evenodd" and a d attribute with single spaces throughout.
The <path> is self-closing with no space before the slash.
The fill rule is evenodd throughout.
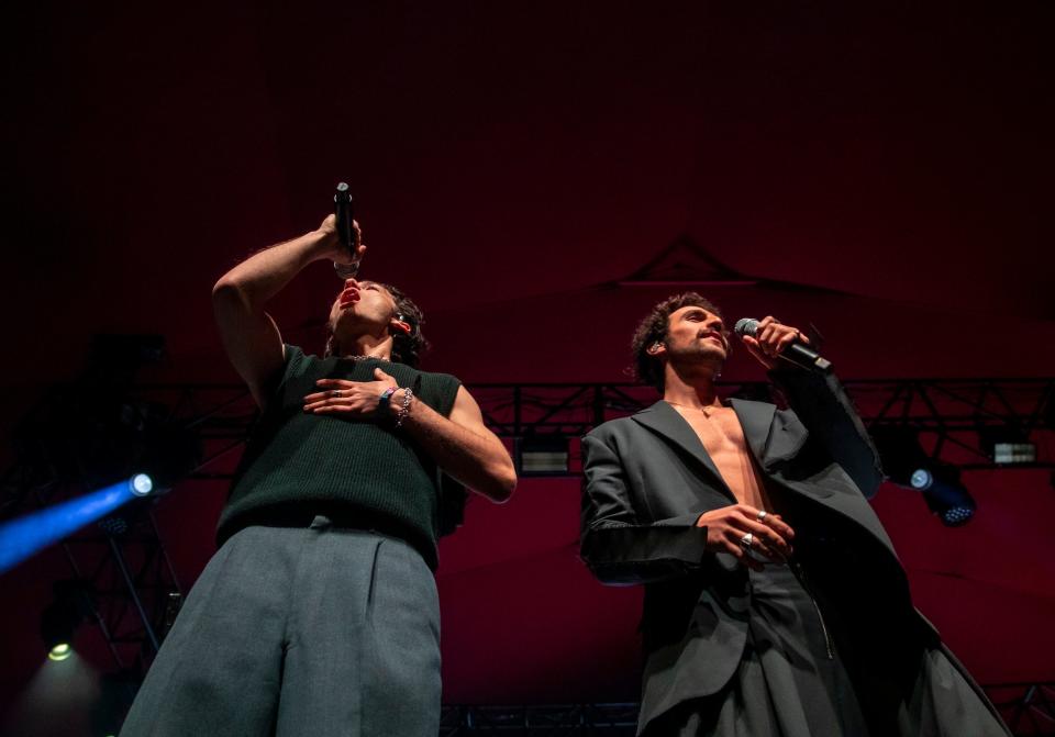
<path id="1" fill-rule="evenodd" d="M 123 737 L 435 737 L 435 580 L 402 540 L 247 527 L 213 556 L 136 696 Z"/>

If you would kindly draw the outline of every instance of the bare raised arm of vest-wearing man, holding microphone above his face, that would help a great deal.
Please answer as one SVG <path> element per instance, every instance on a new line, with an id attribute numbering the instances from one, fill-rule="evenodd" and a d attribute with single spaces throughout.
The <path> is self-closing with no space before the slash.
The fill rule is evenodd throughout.
<path id="1" fill-rule="evenodd" d="M 364 249 L 357 244 L 356 258 Z M 223 347 L 258 405 L 263 406 L 267 380 L 285 360 L 278 325 L 264 306 L 301 269 L 322 259 L 351 260 L 337 239 L 333 215 L 316 231 L 254 254 L 220 277 L 212 288 Z"/>

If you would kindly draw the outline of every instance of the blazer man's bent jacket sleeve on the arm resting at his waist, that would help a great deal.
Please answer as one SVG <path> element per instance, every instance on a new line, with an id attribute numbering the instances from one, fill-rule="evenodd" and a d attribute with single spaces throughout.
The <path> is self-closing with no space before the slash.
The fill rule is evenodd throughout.
<path id="1" fill-rule="evenodd" d="M 603 440 L 582 438 L 580 555 L 602 583 L 630 585 L 684 576 L 707 554 L 699 513 L 642 524 L 628 495 L 623 465 Z"/>

